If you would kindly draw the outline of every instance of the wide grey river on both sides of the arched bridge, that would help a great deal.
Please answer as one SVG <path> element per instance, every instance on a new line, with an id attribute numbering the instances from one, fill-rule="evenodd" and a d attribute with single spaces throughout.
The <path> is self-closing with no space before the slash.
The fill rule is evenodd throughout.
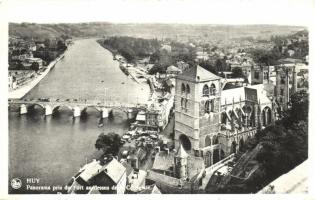
<path id="1" fill-rule="evenodd" d="M 145 103 L 149 86 L 128 78 L 113 60 L 111 52 L 95 39 L 75 41 L 65 58 L 25 98 L 100 99 Z M 19 190 L 10 193 L 56 193 L 30 191 L 26 178 L 39 178 L 37 185 L 65 185 L 87 161 L 100 155 L 94 147 L 101 132 L 123 134 L 129 127 L 124 114 L 106 119 L 98 127 L 99 113 L 88 110 L 88 118 L 73 119 L 70 111 L 61 115 L 43 115 L 36 108 L 20 116 L 9 112 L 9 181 L 22 180 Z"/>

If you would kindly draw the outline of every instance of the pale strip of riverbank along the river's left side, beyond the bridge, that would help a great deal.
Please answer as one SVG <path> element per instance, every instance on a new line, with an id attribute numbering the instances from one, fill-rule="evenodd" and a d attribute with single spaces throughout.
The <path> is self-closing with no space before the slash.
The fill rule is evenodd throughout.
<path id="1" fill-rule="evenodd" d="M 23 85 L 22 87 L 9 91 L 8 99 L 21 99 L 23 98 L 27 93 L 29 93 L 43 78 L 46 77 L 46 75 L 50 72 L 51 69 L 55 67 L 55 65 L 65 56 L 65 53 L 62 53 L 60 56 L 58 56 L 54 61 L 49 63 L 49 65 L 46 66 L 46 69 L 41 72 L 40 75 L 35 77 L 32 81 L 28 82 L 27 84 Z"/>

